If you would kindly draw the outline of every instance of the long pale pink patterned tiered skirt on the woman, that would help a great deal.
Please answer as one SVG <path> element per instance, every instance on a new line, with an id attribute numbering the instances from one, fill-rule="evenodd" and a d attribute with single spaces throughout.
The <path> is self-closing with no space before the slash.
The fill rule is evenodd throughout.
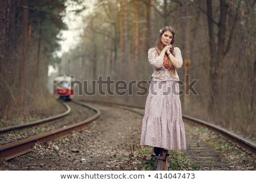
<path id="1" fill-rule="evenodd" d="M 142 146 L 186 149 L 179 92 L 177 81 L 151 81 L 142 123 Z"/>

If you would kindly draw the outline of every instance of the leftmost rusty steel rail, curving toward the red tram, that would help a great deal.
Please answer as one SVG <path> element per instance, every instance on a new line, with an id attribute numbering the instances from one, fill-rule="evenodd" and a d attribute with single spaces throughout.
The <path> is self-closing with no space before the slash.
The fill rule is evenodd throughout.
<path id="1" fill-rule="evenodd" d="M 61 104 L 63 104 L 67 108 L 67 111 L 65 111 L 64 113 L 61 113 L 61 114 L 58 114 L 58 115 L 55 115 L 55 116 L 52 116 L 52 117 L 49 117 L 49 118 L 40 119 L 38 121 L 31 122 L 31 123 L 24 123 L 24 124 L 21 124 L 21 125 L 4 127 L 2 129 L 0 129 L 0 134 L 1 133 L 6 133 L 6 132 L 11 131 L 11 130 L 22 129 L 23 127 L 39 125 L 41 123 L 53 121 L 55 119 L 59 119 L 59 118 L 64 117 L 65 115 L 68 115 L 71 112 L 71 108 L 67 104 L 65 104 L 64 102 L 61 102 Z"/>

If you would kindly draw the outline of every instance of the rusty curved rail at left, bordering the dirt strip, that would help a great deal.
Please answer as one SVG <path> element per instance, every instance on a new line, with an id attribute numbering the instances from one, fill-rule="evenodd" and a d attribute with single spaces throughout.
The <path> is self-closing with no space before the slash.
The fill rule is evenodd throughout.
<path id="1" fill-rule="evenodd" d="M 98 117 L 100 117 L 101 111 L 96 109 L 93 106 L 84 104 L 79 101 L 73 101 L 76 104 L 80 104 L 85 107 L 89 107 L 90 109 L 96 111 L 92 117 L 85 119 L 79 123 L 75 123 L 66 127 L 61 127 L 60 129 L 56 129 L 53 131 L 49 131 L 44 134 L 37 135 L 35 137 L 30 137 L 27 139 L 19 140 L 17 142 L 9 143 L 3 146 L 0 146 L 0 158 L 4 160 L 10 160 L 15 158 L 16 156 L 26 154 L 27 152 L 32 151 L 32 146 L 36 142 L 46 143 L 49 140 L 53 140 L 59 137 L 64 137 L 71 133 L 72 131 L 79 131 L 82 128 L 86 127 L 90 122 L 94 121 Z"/>

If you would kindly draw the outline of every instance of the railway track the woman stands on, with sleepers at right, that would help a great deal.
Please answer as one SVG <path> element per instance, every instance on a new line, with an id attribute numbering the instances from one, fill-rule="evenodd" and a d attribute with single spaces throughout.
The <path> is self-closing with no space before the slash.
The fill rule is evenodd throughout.
<path id="1" fill-rule="evenodd" d="M 113 102 L 101 102 L 101 101 L 89 101 L 89 100 L 84 100 L 84 101 L 93 102 L 97 104 L 112 105 L 115 107 L 120 107 L 122 109 L 133 111 L 142 116 L 144 115 L 143 107 L 135 107 L 135 106 L 125 105 L 125 104 L 116 104 Z M 248 152 L 249 154 L 252 154 L 254 157 L 256 156 L 255 142 L 250 141 L 246 138 L 243 138 L 237 134 L 232 133 L 231 131 L 228 131 L 216 125 L 212 125 L 203 120 L 189 117 L 188 115 L 184 115 L 184 114 L 183 114 L 183 118 L 185 122 L 188 122 L 188 124 L 190 125 L 200 125 L 203 127 L 207 127 L 210 130 L 213 130 L 215 133 L 222 135 L 224 138 L 228 139 L 230 142 L 236 143 L 244 151 Z M 200 167 L 212 167 L 212 168 L 218 168 L 223 170 L 229 169 L 229 167 L 232 166 L 232 164 L 223 162 L 220 155 L 216 154 L 216 152 L 213 151 L 207 144 L 205 144 L 198 137 L 193 135 L 193 131 L 192 132 L 188 131 L 186 135 L 187 135 L 186 136 L 187 153 L 191 157 L 191 159 L 195 161 L 197 165 L 199 165 Z M 156 170 L 158 171 L 167 170 L 167 163 L 168 163 L 167 160 L 164 160 L 164 161 L 158 160 L 158 166 L 156 167 Z"/>

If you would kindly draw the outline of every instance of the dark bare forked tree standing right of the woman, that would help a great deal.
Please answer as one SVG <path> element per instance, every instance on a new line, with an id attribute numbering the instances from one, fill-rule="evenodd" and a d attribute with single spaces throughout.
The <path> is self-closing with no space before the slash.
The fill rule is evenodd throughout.
<path id="1" fill-rule="evenodd" d="M 222 83 L 223 64 L 224 58 L 230 49 L 230 41 L 232 40 L 234 27 L 237 23 L 238 7 L 233 17 L 232 24 L 228 24 L 228 16 L 232 16 L 229 13 L 230 6 L 226 0 L 220 0 L 220 16 L 218 22 L 213 16 L 212 0 L 207 1 L 207 19 L 208 19 L 208 34 L 209 34 L 209 48 L 210 48 L 210 104 L 209 108 L 212 109 L 214 105 L 218 103 L 218 96 L 220 96 L 220 90 L 218 89 Z M 214 25 L 217 26 L 217 39 L 214 32 Z M 231 28 L 228 28 L 231 27 Z M 226 36 L 228 32 L 228 36 Z"/>

